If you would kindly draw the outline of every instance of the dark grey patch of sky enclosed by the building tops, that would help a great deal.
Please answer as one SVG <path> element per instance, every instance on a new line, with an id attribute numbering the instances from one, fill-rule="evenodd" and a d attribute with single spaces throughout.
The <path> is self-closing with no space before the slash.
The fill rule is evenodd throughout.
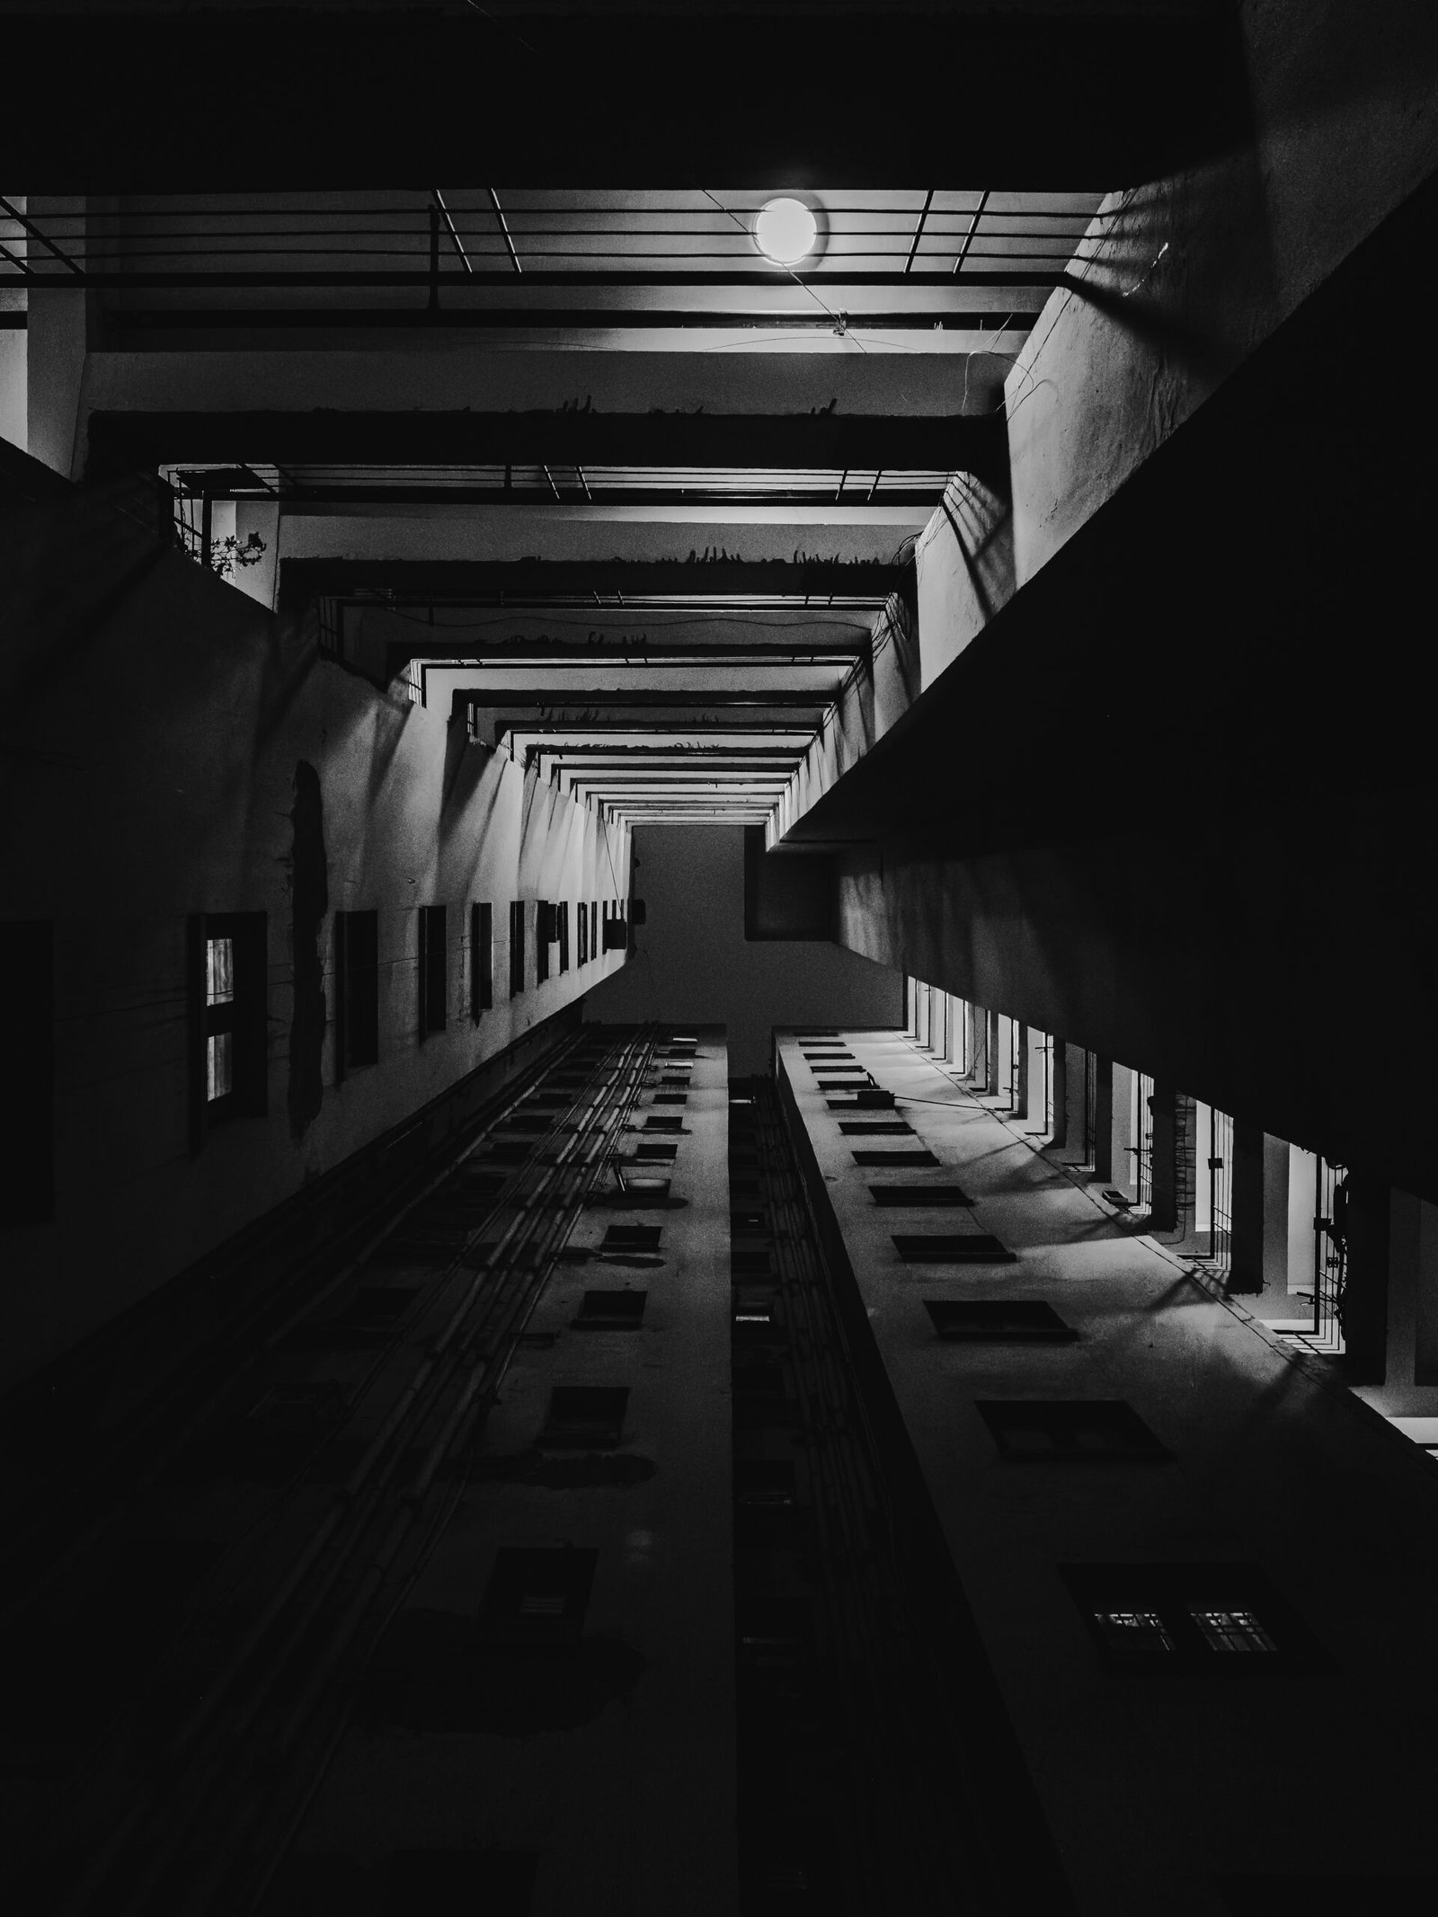
<path id="1" fill-rule="evenodd" d="M 640 826 L 637 951 L 596 985 L 585 1016 L 729 1028 L 729 1070 L 769 1070 L 775 1026 L 901 1026 L 903 974 L 803 939 L 744 937 L 744 826 Z"/>

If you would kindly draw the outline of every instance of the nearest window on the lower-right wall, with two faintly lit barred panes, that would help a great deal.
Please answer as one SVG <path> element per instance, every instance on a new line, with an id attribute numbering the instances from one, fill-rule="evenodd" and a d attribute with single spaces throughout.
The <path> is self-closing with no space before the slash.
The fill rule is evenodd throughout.
<path id="1" fill-rule="evenodd" d="M 1256 1564 L 1062 1564 L 1116 1670 L 1311 1666 L 1317 1645 Z"/>

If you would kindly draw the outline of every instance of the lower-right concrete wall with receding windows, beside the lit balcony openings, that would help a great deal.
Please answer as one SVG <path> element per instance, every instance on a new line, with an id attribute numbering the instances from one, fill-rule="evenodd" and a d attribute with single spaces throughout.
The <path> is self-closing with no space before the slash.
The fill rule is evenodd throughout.
<path id="1" fill-rule="evenodd" d="M 1083 1917 L 1290 1917 L 1331 1907 L 1317 1894 L 1327 1877 L 1334 1892 L 1361 1879 L 1357 1905 L 1369 1890 L 1379 1907 L 1380 1873 L 1402 1905 L 1403 1879 L 1430 1871 L 1432 1767 L 1411 1725 L 1413 1700 L 1438 1675 L 1425 1626 L 1432 1461 L 1246 1311 L 1185 1281 L 1150 1238 L 1102 1215 L 1053 1173 L 1022 1120 L 980 1110 L 893 1033 L 842 1035 L 897 1095 L 916 1133 L 905 1143 L 928 1146 L 939 1169 L 855 1166 L 861 1141 L 840 1135 L 788 1039 L 780 1083 L 807 1135 L 821 1217 L 834 1219 L 840 1288 L 857 1286 L 857 1336 L 872 1338 L 903 1415 L 1074 1905 Z M 895 1213 L 869 1190 L 890 1179 L 957 1181 L 976 1202 L 966 1217 Z M 1016 1261 L 897 1261 L 895 1229 L 955 1233 L 968 1219 Z M 941 1342 L 928 1298 L 1043 1298 L 1078 1338 Z M 978 1415 L 986 1399 L 1122 1399 L 1170 1457 L 1010 1463 Z M 1058 1566 L 1193 1560 L 1256 1564 L 1317 1652 L 1287 1674 L 1241 1656 L 1193 1675 L 1104 1668 Z M 1290 1821 L 1260 1806 L 1311 1775 L 1333 1781 L 1333 1815 L 1321 1854 L 1296 1856 Z M 1216 1789 L 1231 1812 L 1218 1810 Z M 1016 1877 L 1024 1861 L 1012 1859 Z M 1262 1898 L 1254 1888 L 1252 1904 L 1229 1902 L 1219 1884 L 1248 1873 Z M 1016 1896 L 1014 1907 L 1045 1905 Z"/>

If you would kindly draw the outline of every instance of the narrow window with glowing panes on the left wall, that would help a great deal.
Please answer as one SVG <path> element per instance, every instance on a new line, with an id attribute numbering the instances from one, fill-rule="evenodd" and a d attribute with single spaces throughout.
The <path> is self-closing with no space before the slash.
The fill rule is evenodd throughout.
<path id="1" fill-rule="evenodd" d="M 194 1143 L 211 1125 L 265 1114 L 268 945 L 265 912 L 190 920 Z"/>

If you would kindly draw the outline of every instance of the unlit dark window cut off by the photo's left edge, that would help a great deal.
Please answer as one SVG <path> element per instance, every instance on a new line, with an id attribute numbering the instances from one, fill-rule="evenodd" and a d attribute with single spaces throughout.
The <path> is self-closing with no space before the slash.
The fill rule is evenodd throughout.
<path id="1" fill-rule="evenodd" d="M 15 1118 L 0 1152 L 0 1223 L 56 1215 L 56 934 L 48 918 L 0 926 L 0 995 L 10 1012 L 6 1102 Z"/>

